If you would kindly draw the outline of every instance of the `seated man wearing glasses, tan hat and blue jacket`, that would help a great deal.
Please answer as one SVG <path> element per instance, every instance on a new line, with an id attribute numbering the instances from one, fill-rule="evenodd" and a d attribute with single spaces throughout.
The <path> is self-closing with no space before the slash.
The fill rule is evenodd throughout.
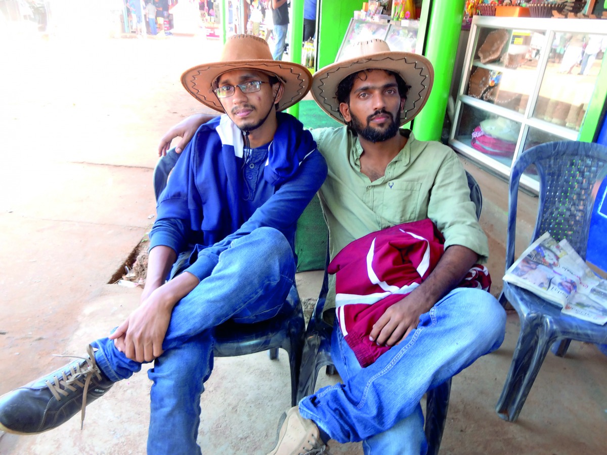
<path id="1" fill-rule="evenodd" d="M 87 402 L 155 360 L 148 453 L 200 453 L 212 329 L 285 310 L 297 218 L 327 175 L 311 133 L 280 112 L 304 98 L 310 72 L 236 35 L 219 62 L 181 82 L 225 115 L 197 130 L 158 198 L 141 305 L 86 357 L 0 397 L 0 430 L 41 433 L 84 416 Z"/>

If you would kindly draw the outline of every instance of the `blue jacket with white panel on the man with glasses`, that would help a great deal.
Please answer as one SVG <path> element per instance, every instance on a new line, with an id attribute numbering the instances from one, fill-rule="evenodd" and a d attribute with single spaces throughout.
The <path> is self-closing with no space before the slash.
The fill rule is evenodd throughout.
<path id="1" fill-rule="evenodd" d="M 157 204 L 150 248 L 177 254 L 194 246 L 186 271 L 199 280 L 211 274 L 219 254 L 257 227 L 274 227 L 294 250 L 297 218 L 327 176 L 327 164 L 312 135 L 286 113 L 268 146 L 263 178 L 243 200 L 242 132 L 222 115 L 203 124 L 181 153 Z"/>

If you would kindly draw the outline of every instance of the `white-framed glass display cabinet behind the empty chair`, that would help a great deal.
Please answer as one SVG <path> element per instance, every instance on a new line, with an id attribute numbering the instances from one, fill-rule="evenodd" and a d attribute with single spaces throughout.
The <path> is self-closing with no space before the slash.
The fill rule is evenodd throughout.
<path id="1" fill-rule="evenodd" d="M 596 19 L 475 16 L 450 145 L 508 178 L 518 153 L 591 141 L 605 106 L 607 27 Z M 537 191 L 530 171 L 521 184 Z"/>

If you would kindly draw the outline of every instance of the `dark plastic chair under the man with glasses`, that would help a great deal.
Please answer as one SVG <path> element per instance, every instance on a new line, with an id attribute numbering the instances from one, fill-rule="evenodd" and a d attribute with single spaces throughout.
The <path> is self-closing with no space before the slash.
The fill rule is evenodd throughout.
<path id="1" fill-rule="evenodd" d="M 156 200 L 166 187 L 169 173 L 179 156 L 171 149 L 158 160 L 154 168 Z M 214 334 L 214 354 L 217 357 L 235 357 L 269 351 L 270 359 L 278 359 L 278 349 L 285 349 L 291 368 L 291 406 L 295 406 L 305 331 L 304 311 L 295 285 L 289 291 L 287 303 L 289 308 L 293 308 L 288 314 L 277 315 L 254 324 L 240 324 L 229 320 L 217 326 Z"/>

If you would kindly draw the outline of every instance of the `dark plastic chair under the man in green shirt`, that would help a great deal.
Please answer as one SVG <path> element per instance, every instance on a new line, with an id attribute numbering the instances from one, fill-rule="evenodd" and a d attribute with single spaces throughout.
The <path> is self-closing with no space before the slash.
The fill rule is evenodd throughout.
<path id="1" fill-rule="evenodd" d="M 483 195 L 480 186 L 472 175 L 466 172 L 468 186 L 470 187 L 470 200 L 475 203 L 476 217 L 480 218 L 483 208 Z M 328 242 L 327 242 L 328 244 Z M 314 393 L 318 372 L 327 366 L 327 374 L 334 374 L 335 367 L 331 359 L 331 332 L 333 327 L 322 318 L 325 300 L 328 291 L 327 266 L 330 261 L 327 247 L 327 263 L 322 288 L 312 311 L 310 322 L 305 333 L 304 354 L 299 378 L 297 401 Z M 451 393 L 451 379 L 426 393 L 426 423 L 424 431 L 428 442 L 427 455 L 435 455 L 443 439 L 443 431 L 447 420 L 449 408 L 449 395 Z"/>

